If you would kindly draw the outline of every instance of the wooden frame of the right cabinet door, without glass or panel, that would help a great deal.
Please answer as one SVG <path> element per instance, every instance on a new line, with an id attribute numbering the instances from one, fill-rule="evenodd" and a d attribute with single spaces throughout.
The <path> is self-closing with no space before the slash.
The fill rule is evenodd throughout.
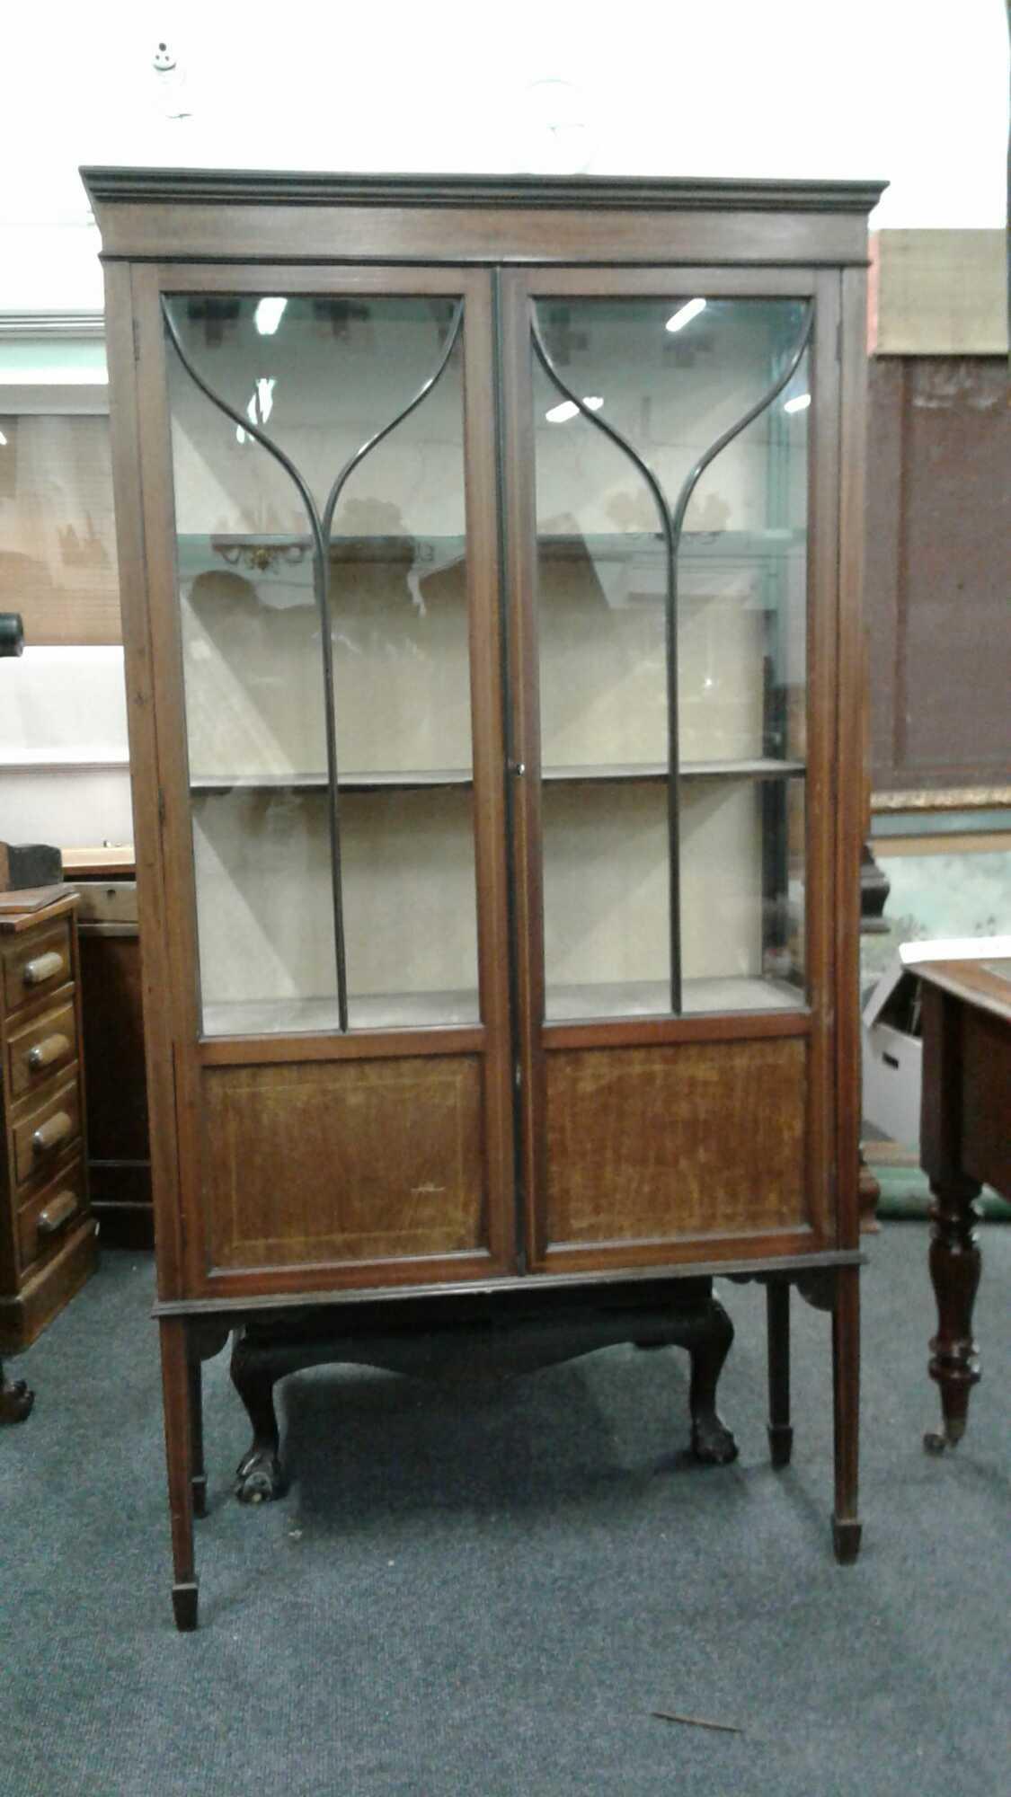
<path id="1" fill-rule="evenodd" d="M 648 298 L 667 293 L 712 298 L 810 298 L 811 437 L 808 453 L 808 773 L 806 773 L 806 979 L 808 1005 L 792 1012 L 545 1022 L 543 992 L 543 857 L 540 818 L 540 721 L 536 636 L 536 503 L 529 347 L 529 307 L 540 297 Z M 804 1254 L 853 1245 L 851 1222 L 838 1206 L 835 1060 L 837 992 L 842 960 L 837 938 L 849 929 L 853 897 L 838 877 L 838 742 L 840 717 L 853 708 L 856 668 L 853 645 L 838 640 L 838 483 L 840 483 L 840 273 L 817 268 L 532 268 L 502 275 L 504 509 L 506 580 L 509 595 L 513 769 L 513 864 L 518 981 L 518 1064 L 522 1129 L 522 1202 L 531 1270 L 604 1270 L 664 1267 L 673 1261 L 734 1260 L 741 1254 Z M 854 771 L 853 771 L 854 773 Z M 842 913 L 842 915 L 840 915 Z M 565 1245 L 547 1227 L 547 1057 L 558 1051 L 644 1048 L 711 1042 L 801 1039 L 806 1053 L 804 1182 L 808 1224 L 757 1233 Z M 853 1076 L 845 1075 L 847 1078 Z M 842 1082 L 840 1082 L 842 1084 Z"/>

